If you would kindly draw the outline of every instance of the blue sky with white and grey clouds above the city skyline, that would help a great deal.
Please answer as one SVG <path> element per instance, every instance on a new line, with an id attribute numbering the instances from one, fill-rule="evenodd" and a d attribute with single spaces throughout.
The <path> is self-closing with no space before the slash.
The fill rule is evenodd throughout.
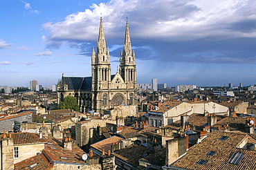
<path id="1" fill-rule="evenodd" d="M 100 17 L 119 65 L 129 22 L 137 83 L 256 84 L 255 0 L 0 0 L 0 86 L 91 76 Z"/>

